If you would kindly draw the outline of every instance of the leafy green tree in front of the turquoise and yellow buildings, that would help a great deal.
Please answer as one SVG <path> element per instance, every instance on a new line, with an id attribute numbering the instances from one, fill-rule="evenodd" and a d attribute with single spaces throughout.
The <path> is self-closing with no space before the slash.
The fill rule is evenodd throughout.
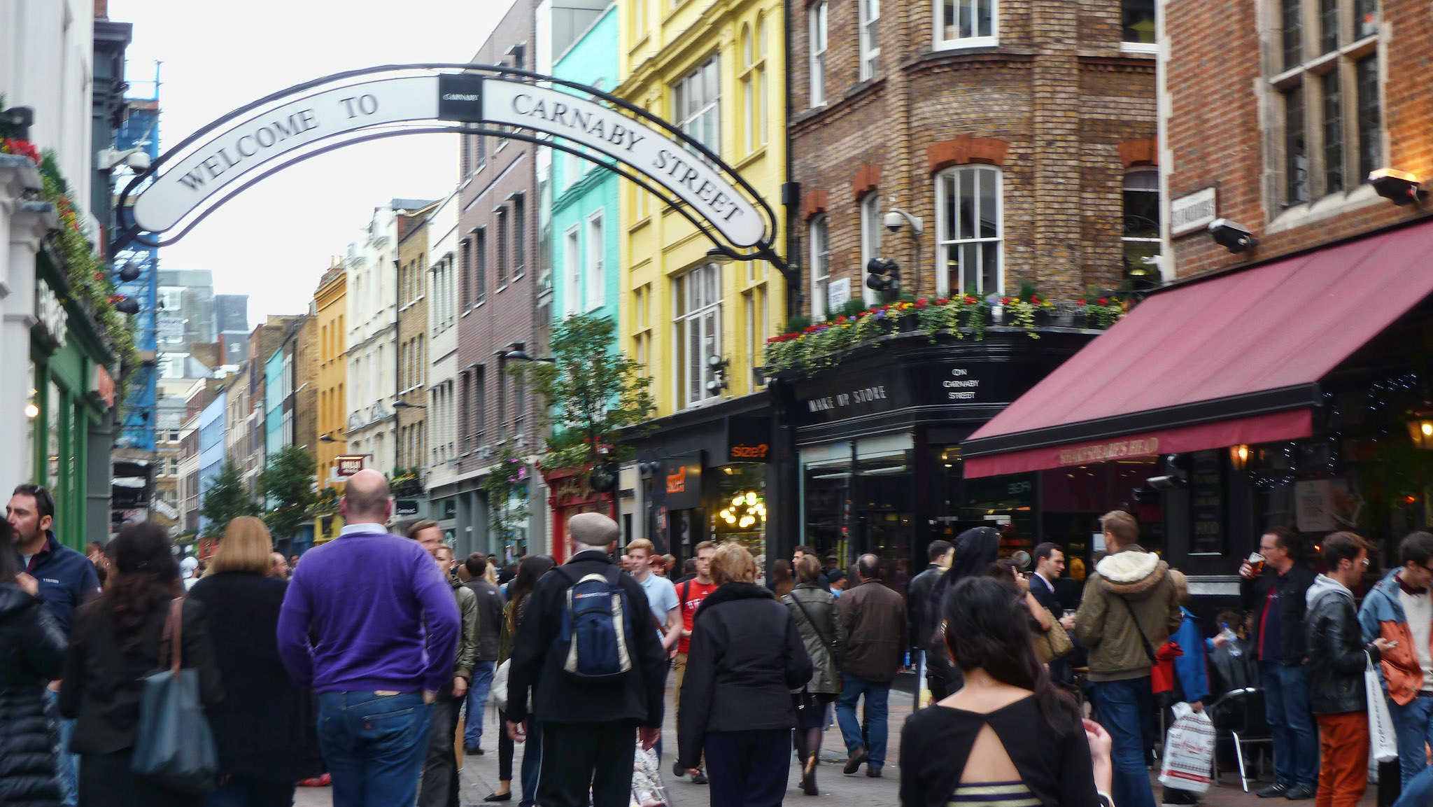
<path id="1" fill-rule="evenodd" d="M 639 429 L 655 407 L 652 378 L 616 350 L 616 325 L 606 317 L 575 314 L 552 331 L 556 361 L 527 361 L 509 371 L 546 404 L 545 467 L 592 467 L 600 454 L 631 459 L 618 433 Z"/>

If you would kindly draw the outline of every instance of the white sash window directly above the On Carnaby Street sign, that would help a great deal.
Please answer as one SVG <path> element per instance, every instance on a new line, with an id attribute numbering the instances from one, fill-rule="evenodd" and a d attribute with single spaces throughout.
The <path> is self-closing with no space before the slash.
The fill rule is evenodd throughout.
<path id="1" fill-rule="evenodd" d="M 936 292 L 984 298 L 1005 290 L 1000 169 L 962 165 L 936 176 Z"/>

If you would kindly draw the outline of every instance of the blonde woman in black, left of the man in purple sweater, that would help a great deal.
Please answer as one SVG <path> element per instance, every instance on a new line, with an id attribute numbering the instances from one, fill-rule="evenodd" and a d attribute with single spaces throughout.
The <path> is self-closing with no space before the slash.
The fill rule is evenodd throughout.
<path id="1" fill-rule="evenodd" d="M 267 576 L 274 540 L 264 522 L 229 522 L 209 572 L 189 589 L 203 603 L 224 699 L 209 707 L 219 757 L 212 806 L 288 807 L 294 783 L 322 771 L 308 689 L 278 656 L 278 612 L 288 583 Z"/>

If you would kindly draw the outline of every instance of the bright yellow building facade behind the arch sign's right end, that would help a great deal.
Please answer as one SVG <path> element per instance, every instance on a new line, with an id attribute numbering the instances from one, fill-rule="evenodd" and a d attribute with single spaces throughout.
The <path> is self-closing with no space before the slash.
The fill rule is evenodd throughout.
<path id="1" fill-rule="evenodd" d="M 787 161 L 781 1 L 618 6 L 622 80 L 613 95 L 721 155 L 780 215 Z M 781 234 L 774 238 L 781 251 Z M 761 391 L 751 368 L 785 323 L 775 267 L 712 259 L 711 247 L 681 214 L 623 183 L 622 348 L 655 378 L 658 417 Z"/>

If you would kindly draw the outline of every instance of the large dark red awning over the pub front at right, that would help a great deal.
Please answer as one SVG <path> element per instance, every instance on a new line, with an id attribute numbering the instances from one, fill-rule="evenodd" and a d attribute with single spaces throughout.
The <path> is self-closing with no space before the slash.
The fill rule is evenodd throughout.
<path id="1" fill-rule="evenodd" d="M 1307 437 L 1318 380 L 1429 294 L 1433 222 L 1152 294 L 972 434 L 964 476 Z"/>

